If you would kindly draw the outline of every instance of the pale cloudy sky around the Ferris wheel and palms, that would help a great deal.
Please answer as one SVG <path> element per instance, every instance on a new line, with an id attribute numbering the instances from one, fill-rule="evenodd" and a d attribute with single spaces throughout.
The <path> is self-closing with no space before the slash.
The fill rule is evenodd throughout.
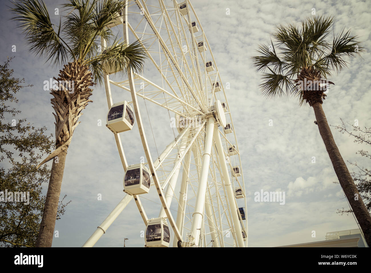
<path id="1" fill-rule="evenodd" d="M 45 3 L 53 14 L 64 0 L 46 0 Z M 260 43 L 270 43 L 270 35 L 278 24 L 299 23 L 313 11 L 316 15 L 333 15 L 334 32 L 340 32 L 343 27 L 351 29 L 351 33 L 364 43 L 366 52 L 362 53 L 362 58 L 347 59 L 349 68 L 330 79 L 335 86 L 329 90 L 323 108 L 331 125 L 341 124 L 342 118 L 350 124 L 358 120 L 359 126 L 370 127 L 371 2 L 191 0 L 191 3 L 208 39 L 223 85 L 230 84 L 226 97 L 232 106 L 242 159 L 249 246 L 322 241 L 327 232 L 358 228 L 352 215 L 336 213 L 338 209 L 347 209 L 348 204 L 340 185 L 333 183 L 337 178 L 318 127 L 313 123 L 313 109 L 308 105 L 299 107 L 295 98 L 264 98 L 259 92 L 260 76 L 253 68 L 251 57 L 256 55 Z M 27 84 L 33 85 L 17 94 L 18 108 L 22 111 L 19 118 L 27 118 L 38 127 L 47 126 L 47 133 L 54 134 L 51 95 L 43 90 L 43 82 L 58 75 L 59 68 L 52 68 L 45 60 L 29 53 L 20 29 L 9 20 L 11 13 L 5 7 L 7 4 L 8 1 L 1 0 L 0 60 L 3 62 L 7 56 L 14 56 L 11 63 L 14 76 L 25 78 Z M 12 51 L 13 45 L 16 52 Z M 151 73 L 149 68 L 146 71 Z M 116 98 L 122 96 L 118 91 L 113 92 Z M 108 112 L 104 88 L 95 86 L 91 99 L 93 102 L 79 118 L 81 124 L 68 149 L 60 196 L 66 194 L 66 200 L 72 202 L 66 207 L 65 215 L 56 221 L 59 237 L 53 239 L 53 247 L 81 247 L 124 197 L 124 170 L 112 132 L 104 126 Z M 157 150 L 161 153 L 170 142 L 170 131 L 164 129 L 168 126 L 167 112 L 157 114 L 153 112 L 156 108 L 150 106 L 147 116 L 142 102 L 141 107 L 152 158 L 155 158 Z M 99 119 L 103 126 L 97 125 Z M 272 123 L 273 126 L 269 126 Z M 355 154 L 367 147 L 355 144 L 351 137 L 333 127 L 331 130 L 344 160 L 357 161 L 367 167 L 370 162 Z M 130 164 L 144 155 L 138 134 L 134 128 L 122 136 Z M 352 171 L 353 167 L 348 162 L 347 165 Z M 285 192 L 285 204 L 255 202 L 254 193 L 261 190 Z M 98 200 L 98 194 L 102 195 L 102 200 Z M 150 197 L 155 200 L 154 189 Z M 143 203 L 148 216 L 157 217 L 158 207 L 151 207 L 147 200 Z M 140 233 L 144 229 L 138 209 L 131 201 L 95 246 L 121 247 L 124 238 L 128 238 L 128 247 L 142 247 L 144 239 Z"/>

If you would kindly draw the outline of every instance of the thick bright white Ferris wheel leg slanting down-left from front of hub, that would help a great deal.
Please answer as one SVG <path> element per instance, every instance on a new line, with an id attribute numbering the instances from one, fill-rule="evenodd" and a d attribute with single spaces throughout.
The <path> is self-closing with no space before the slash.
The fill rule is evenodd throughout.
<path id="1" fill-rule="evenodd" d="M 202 159 L 202 167 L 200 179 L 198 182 L 198 191 L 196 205 L 194 207 L 193 221 L 191 231 L 194 238 L 195 246 L 198 246 L 200 241 L 200 229 L 202 227 L 202 218 L 204 214 L 204 205 L 205 205 L 205 194 L 207 186 L 207 177 L 209 175 L 209 165 L 211 157 L 211 146 L 213 145 L 213 132 L 214 132 L 215 119 L 209 118 L 206 123 L 206 138 L 205 138 L 205 147 L 204 154 Z"/>

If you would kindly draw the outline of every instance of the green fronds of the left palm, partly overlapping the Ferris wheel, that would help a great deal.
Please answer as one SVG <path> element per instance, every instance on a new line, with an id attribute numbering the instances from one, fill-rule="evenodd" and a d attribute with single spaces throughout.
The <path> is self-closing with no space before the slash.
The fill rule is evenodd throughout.
<path id="1" fill-rule="evenodd" d="M 30 52 L 47 57 L 53 66 L 68 60 L 88 65 L 95 81 L 102 83 L 104 64 L 125 73 L 128 68 L 140 72 L 146 58 L 141 43 L 127 45 L 114 36 L 107 26 L 115 14 L 125 7 L 118 0 L 68 0 L 62 7 L 69 11 L 60 17 L 59 25 L 51 22 L 47 8 L 37 0 L 14 3 L 13 20 L 23 29 Z M 101 49 L 101 37 L 112 41 L 111 47 Z"/>

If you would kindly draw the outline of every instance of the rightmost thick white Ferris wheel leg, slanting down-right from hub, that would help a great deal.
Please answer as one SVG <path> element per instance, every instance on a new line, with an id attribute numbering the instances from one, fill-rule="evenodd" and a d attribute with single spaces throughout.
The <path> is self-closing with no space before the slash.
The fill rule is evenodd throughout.
<path id="1" fill-rule="evenodd" d="M 228 198 L 228 203 L 229 203 L 231 214 L 232 214 L 233 226 L 234 226 L 234 230 L 236 231 L 237 243 L 239 247 L 244 247 L 245 245 L 243 242 L 240 220 L 238 219 L 236 201 L 234 200 L 232 184 L 229 179 L 226 159 L 224 158 L 223 145 L 221 144 L 219 129 L 217 127 L 214 130 L 214 141 L 215 141 L 216 149 L 219 155 L 219 162 L 220 162 L 221 171 L 223 174 L 224 185 L 227 191 L 227 198 Z"/>

